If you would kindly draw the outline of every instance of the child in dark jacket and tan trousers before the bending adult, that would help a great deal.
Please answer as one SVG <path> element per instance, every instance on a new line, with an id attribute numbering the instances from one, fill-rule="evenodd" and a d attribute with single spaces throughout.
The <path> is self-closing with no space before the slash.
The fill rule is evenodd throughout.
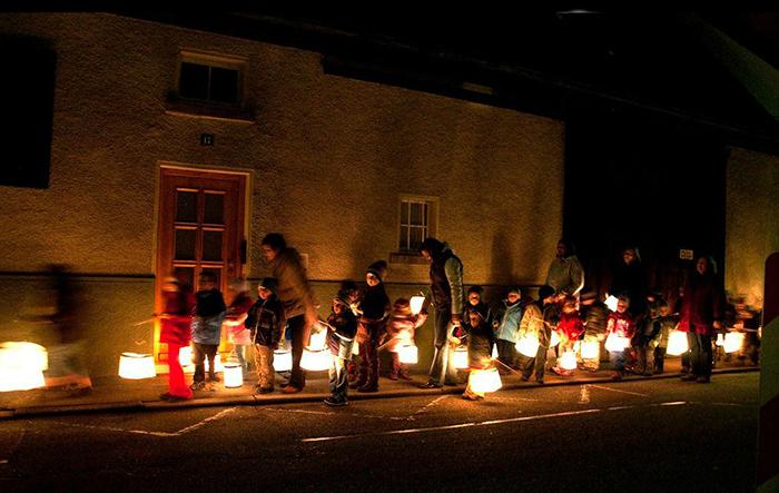
<path id="1" fill-rule="evenodd" d="M 257 303 L 249 308 L 244 325 L 249 329 L 249 338 L 255 347 L 255 366 L 257 367 L 257 394 L 268 394 L 274 390 L 274 351 L 278 348 L 284 326 L 282 302 L 276 296 L 278 283 L 266 277 L 257 286 Z"/>

